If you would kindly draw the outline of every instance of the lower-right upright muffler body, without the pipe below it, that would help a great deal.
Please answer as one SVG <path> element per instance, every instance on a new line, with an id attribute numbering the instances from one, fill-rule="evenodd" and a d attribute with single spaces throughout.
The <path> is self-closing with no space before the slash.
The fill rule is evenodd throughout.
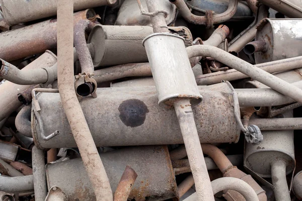
<path id="1" fill-rule="evenodd" d="M 283 114 L 292 117 L 292 111 Z M 263 131 L 263 141 L 258 145 L 246 143 L 244 166 L 261 177 L 271 177 L 271 164 L 276 160 L 284 160 L 286 174 L 292 172 L 295 166 L 293 130 Z"/>

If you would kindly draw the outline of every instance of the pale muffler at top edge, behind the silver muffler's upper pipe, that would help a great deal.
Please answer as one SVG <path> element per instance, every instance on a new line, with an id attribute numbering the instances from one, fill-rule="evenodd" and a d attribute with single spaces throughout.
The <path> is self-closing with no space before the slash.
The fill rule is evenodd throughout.
<path id="1" fill-rule="evenodd" d="M 147 7 L 145 0 L 141 0 L 140 2 L 142 7 Z M 154 0 L 154 2 L 158 5 L 159 10 L 167 12 L 166 24 L 172 26 L 176 20 L 176 7 L 171 5 L 168 0 Z M 150 24 L 150 17 L 141 15 L 136 0 L 125 0 L 119 9 L 115 21 L 115 25 L 146 26 Z"/>

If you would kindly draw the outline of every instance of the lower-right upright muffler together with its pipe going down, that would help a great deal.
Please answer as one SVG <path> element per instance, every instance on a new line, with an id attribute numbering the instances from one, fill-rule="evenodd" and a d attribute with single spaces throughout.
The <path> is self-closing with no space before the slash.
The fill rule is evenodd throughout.
<path id="1" fill-rule="evenodd" d="M 292 111 L 283 114 L 292 117 Z M 293 131 L 263 131 L 263 141 L 246 144 L 244 166 L 261 177 L 272 177 L 276 200 L 290 200 L 286 175 L 295 167 Z"/>

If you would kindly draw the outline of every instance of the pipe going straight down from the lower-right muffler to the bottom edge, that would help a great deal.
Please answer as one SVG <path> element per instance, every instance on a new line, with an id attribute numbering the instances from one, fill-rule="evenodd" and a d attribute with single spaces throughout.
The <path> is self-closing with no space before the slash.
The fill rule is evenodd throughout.
<path id="1" fill-rule="evenodd" d="M 271 171 L 276 201 L 290 201 L 290 192 L 286 181 L 286 162 L 276 160 L 271 164 Z"/>

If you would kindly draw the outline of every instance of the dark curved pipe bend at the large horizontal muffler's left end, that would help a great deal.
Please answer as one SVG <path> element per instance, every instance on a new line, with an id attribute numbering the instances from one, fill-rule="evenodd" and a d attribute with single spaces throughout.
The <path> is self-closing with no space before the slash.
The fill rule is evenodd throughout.
<path id="1" fill-rule="evenodd" d="M 18 113 L 15 125 L 17 130 L 24 136 L 32 138 L 31 133 L 31 105 L 24 106 L 21 111 Z"/>

